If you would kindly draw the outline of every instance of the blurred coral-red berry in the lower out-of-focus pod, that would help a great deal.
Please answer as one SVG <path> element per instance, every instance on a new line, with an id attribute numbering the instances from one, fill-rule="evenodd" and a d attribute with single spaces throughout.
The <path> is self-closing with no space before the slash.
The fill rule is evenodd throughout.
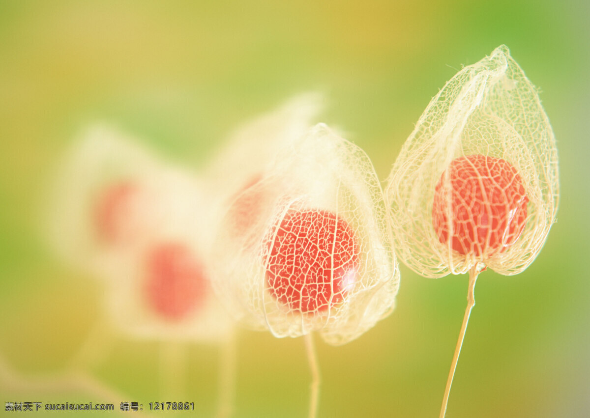
<path id="1" fill-rule="evenodd" d="M 185 245 L 164 243 L 146 259 L 145 291 L 150 308 L 166 320 L 182 320 L 207 291 L 202 265 Z"/>

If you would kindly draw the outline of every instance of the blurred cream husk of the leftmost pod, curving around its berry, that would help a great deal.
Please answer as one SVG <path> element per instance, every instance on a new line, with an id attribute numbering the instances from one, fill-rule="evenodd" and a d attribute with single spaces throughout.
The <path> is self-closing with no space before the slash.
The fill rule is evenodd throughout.
<path id="1" fill-rule="evenodd" d="M 80 269 L 101 269 L 112 248 L 97 239 L 93 219 L 97 198 L 117 182 L 139 182 L 157 189 L 161 169 L 158 159 L 132 137 L 104 124 L 84 130 L 59 161 L 43 205 L 44 229 L 52 249 Z M 152 212 L 158 211 L 155 206 Z"/>

